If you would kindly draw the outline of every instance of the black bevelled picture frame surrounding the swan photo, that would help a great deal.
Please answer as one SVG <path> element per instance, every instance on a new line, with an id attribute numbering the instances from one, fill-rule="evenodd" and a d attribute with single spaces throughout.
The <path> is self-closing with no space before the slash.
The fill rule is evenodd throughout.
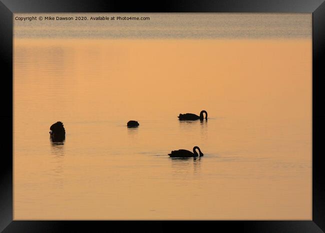
<path id="1" fill-rule="evenodd" d="M 13 221 L 12 202 L 12 32 L 13 13 L 25 12 L 285 12 L 312 13 L 312 220 L 307 221 Z M 325 231 L 325 177 L 321 163 L 324 131 L 325 65 L 324 0 L 164 0 L 124 2 L 117 0 L 0 0 L 1 69 L 1 166 L 0 166 L 0 231 L 23 233 L 117 232 L 138 230 L 169 232 L 173 230 L 320 233 Z M 6 91 L 5 91 L 6 90 Z M 3 130 L 4 129 L 4 130 Z M 11 135 L 11 137 L 10 137 Z M 5 150 L 3 150 L 5 148 Z M 189 204 L 190 205 L 190 204 Z M 172 224 L 172 226 L 170 226 Z M 71 230 L 70 230 L 71 231 Z M 206 230 L 207 231 L 207 230 Z M 116 232 L 116 231 L 114 231 Z"/>

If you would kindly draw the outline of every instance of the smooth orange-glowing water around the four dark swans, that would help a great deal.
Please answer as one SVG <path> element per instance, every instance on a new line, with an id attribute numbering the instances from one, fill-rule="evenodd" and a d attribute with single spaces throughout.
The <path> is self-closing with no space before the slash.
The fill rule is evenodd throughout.
<path id="1" fill-rule="evenodd" d="M 13 81 L 15 220 L 311 219 L 309 39 L 15 39 Z"/>

